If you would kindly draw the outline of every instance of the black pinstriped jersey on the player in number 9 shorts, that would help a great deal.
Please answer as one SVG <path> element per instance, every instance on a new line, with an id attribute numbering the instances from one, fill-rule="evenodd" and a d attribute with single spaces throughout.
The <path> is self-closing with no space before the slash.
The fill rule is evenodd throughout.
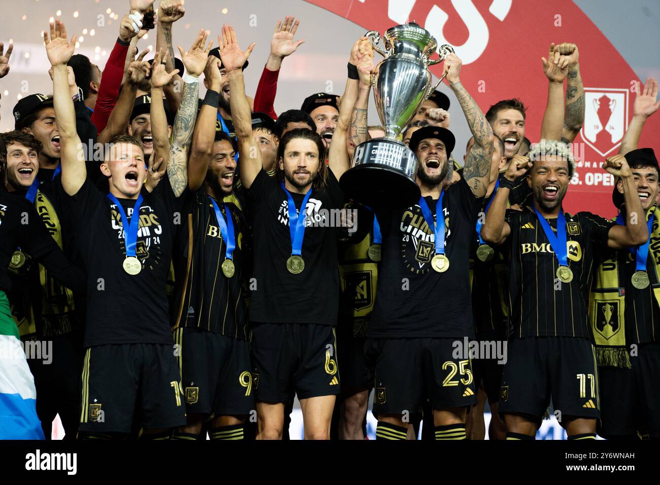
<path id="1" fill-rule="evenodd" d="M 174 245 L 176 300 L 172 327 L 192 327 L 228 337 L 249 340 L 248 288 L 251 269 L 249 228 L 235 197 L 216 201 L 227 220 L 226 207 L 234 227 L 232 262 L 234 275 L 222 272 L 226 241 L 218 227 L 215 209 L 204 186 L 185 194 L 186 202 Z M 192 251 L 190 251 L 192 248 Z"/>

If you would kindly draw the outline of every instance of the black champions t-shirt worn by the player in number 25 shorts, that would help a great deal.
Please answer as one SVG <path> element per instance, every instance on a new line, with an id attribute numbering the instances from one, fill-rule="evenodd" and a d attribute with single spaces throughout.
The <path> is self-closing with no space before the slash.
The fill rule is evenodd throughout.
<path id="1" fill-rule="evenodd" d="M 393 195 L 394 197 L 394 195 Z M 424 197 L 437 223 L 437 200 Z M 376 210 L 383 234 L 376 306 L 369 336 L 377 338 L 465 337 L 474 334 L 470 247 L 482 199 L 465 179 L 445 189 L 445 255 L 449 268 L 431 267 L 434 229 L 419 203 L 403 210 Z"/>

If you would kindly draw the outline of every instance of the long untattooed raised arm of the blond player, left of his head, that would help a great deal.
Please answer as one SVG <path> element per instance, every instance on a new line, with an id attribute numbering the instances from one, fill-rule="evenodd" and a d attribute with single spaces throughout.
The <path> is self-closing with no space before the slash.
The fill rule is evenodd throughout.
<path id="1" fill-rule="evenodd" d="M 53 108 L 59 131 L 62 164 L 62 185 L 69 195 L 78 193 L 87 177 L 84 150 L 76 131 L 76 113 L 69 92 L 67 63 L 73 55 L 77 36 L 67 42 L 67 30 L 59 19 L 50 23 L 50 40 L 44 32 L 46 55 L 53 66 Z"/>

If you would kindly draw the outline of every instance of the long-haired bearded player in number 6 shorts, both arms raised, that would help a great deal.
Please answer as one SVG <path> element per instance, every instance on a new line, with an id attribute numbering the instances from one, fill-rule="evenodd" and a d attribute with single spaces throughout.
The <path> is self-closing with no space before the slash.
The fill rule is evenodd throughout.
<path id="1" fill-rule="evenodd" d="M 240 69 L 253 44 L 242 51 L 231 26 L 222 28 L 218 42 L 232 92 L 240 176 L 253 206 L 255 255 L 249 318 L 257 439 L 281 438 L 284 404 L 293 400 L 294 393 L 302 406 L 305 438 L 328 439 L 339 393 L 334 328 L 339 275 L 337 228 L 329 227 L 326 211 L 343 205 L 337 178 L 348 169 L 348 113 L 335 131 L 329 165 L 324 163 L 321 137 L 308 129 L 295 129 L 282 137 L 277 173 L 269 177 L 252 135 Z M 349 81 L 348 98 L 351 88 L 355 96 L 357 86 Z M 345 110 L 350 106 L 352 101 Z M 317 218 L 323 224 L 311 224 Z"/>

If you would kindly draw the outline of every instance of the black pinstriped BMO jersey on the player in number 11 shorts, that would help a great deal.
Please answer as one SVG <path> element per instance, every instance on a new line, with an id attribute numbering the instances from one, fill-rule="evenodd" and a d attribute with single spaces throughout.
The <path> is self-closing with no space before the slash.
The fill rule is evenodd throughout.
<path id="1" fill-rule="evenodd" d="M 509 273 L 510 337 L 583 337 L 589 339 L 587 319 L 589 290 L 597 267 L 595 255 L 607 247 L 614 225 L 590 212 L 566 218 L 566 250 L 573 280 L 564 283 L 556 275 L 559 266 L 554 249 L 531 207 L 508 210 L 511 234 Z M 556 234 L 557 218 L 547 218 Z M 595 251 L 599 249 L 599 251 Z"/>

